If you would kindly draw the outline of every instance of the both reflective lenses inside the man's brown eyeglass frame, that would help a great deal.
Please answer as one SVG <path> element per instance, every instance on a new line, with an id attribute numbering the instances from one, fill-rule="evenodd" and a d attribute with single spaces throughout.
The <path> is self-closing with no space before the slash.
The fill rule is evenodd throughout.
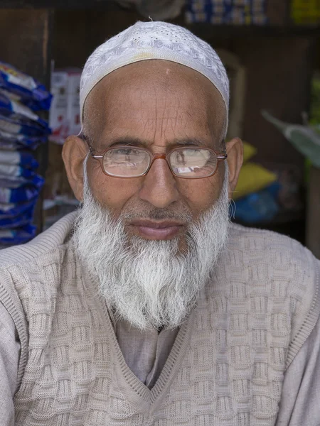
<path id="1" fill-rule="evenodd" d="M 182 178 L 205 178 L 215 172 L 216 155 L 205 149 L 181 148 L 169 155 L 171 170 Z M 103 167 L 112 176 L 134 177 L 143 175 L 151 162 L 147 151 L 132 147 L 113 148 L 105 153 Z"/>

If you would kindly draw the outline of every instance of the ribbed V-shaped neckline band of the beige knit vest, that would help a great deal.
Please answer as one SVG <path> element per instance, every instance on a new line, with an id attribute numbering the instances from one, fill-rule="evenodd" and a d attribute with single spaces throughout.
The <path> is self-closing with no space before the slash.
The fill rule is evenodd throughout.
<path id="1" fill-rule="evenodd" d="M 93 277 L 90 277 L 91 282 L 92 280 Z M 166 391 L 169 389 L 172 381 L 174 381 L 174 378 L 181 368 L 183 358 L 186 355 L 188 344 L 191 339 L 196 307 L 192 310 L 186 321 L 181 324 L 170 354 L 164 364 L 164 368 L 154 386 L 149 389 L 137 376 L 135 376 L 129 366 L 127 366 L 117 341 L 117 336 L 114 332 L 112 320 L 105 301 L 102 300 L 102 297 L 97 297 L 96 301 L 100 304 L 105 317 L 107 339 L 110 342 L 110 354 L 114 364 L 117 386 L 137 413 L 151 415 L 159 408 L 161 400 L 166 397 Z"/>

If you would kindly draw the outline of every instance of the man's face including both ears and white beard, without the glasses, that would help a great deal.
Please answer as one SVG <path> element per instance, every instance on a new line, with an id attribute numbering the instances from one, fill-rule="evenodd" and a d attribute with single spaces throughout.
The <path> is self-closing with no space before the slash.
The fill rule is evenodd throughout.
<path id="1" fill-rule="evenodd" d="M 224 122 L 223 100 L 206 77 L 153 60 L 97 84 L 85 102 L 83 131 L 97 153 L 117 144 L 154 154 L 181 146 L 221 151 Z M 68 178 L 83 201 L 73 243 L 116 317 L 139 329 L 186 319 L 228 236 L 240 141 L 227 150 L 228 170 L 221 163 L 210 178 L 177 178 L 156 159 L 145 176 L 123 179 L 105 175 L 81 138 L 66 141 Z"/>

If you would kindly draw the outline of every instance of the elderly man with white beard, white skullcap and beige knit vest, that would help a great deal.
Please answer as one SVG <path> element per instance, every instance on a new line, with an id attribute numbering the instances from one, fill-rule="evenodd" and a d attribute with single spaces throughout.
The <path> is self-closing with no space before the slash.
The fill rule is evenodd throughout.
<path id="1" fill-rule="evenodd" d="M 82 208 L 0 255 L 1 426 L 320 424 L 319 261 L 230 224 L 210 46 L 136 23 L 82 72 Z"/>

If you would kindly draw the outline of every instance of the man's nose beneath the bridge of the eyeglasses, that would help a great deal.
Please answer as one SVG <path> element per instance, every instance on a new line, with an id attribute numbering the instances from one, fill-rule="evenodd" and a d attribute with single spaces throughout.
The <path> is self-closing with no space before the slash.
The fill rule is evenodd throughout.
<path id="1" fill-rule="evenodd" d="M 139 197 L 158 209 L 164 209 L 178 200 L 176 179 L 166 160 L 161 158 L 154 160 L 149 172 L 144 176 Z"/>

